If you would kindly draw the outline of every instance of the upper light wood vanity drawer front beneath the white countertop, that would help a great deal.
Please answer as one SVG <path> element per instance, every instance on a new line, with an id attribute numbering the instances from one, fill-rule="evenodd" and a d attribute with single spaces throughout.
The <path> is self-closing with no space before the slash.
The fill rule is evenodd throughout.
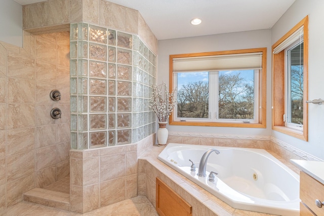
<path id="1" fill-rule="evenodd" d="M 324 215 L 324 206 L 318 208 L 315 200 L 324 201 L 324 185 L 305 172 L 300 172 L 300 199 L 317 215 Z"/>

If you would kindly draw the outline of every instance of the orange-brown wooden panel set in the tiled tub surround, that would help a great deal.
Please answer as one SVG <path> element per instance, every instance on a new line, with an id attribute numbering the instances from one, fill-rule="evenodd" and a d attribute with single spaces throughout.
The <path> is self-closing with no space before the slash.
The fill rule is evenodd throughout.
<path id="1" fill-rule="evenodd" d="M 156 211 L 161 216 L 191 216 L 192 206 L 156 178 Z"/>

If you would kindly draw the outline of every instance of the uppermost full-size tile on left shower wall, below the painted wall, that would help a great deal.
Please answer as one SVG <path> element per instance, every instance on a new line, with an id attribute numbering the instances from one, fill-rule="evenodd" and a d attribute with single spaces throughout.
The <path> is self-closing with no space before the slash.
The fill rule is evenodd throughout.
<path id="1" fill-rule="evenodd" d="M 8 77 L 25 80 L 35 79 L 35 62 L 28 56 L 8 52 Z"/>

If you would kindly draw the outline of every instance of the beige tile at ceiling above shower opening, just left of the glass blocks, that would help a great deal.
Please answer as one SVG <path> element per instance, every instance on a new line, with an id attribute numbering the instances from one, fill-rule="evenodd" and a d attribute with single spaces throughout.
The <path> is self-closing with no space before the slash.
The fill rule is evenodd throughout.
<path id="1" fill-rule="evenodd" d="M 52 0 L 49 2 L 49 25 L 69 22 L 69 2 Z"/>

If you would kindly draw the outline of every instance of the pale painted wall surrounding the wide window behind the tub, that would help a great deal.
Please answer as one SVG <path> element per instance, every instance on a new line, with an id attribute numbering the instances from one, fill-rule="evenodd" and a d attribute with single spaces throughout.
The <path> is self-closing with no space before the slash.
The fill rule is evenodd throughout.
<path id="1" fill-rule="evenodd" d="M 158 41 L 157 83 L 169 84 L 169 55 L 252 48 L 267 48 L 267 128 L 229 128 L 169 125 L 169 131 L 270 135 L 271 133 L 271 30 L 255 30 Z"/>

